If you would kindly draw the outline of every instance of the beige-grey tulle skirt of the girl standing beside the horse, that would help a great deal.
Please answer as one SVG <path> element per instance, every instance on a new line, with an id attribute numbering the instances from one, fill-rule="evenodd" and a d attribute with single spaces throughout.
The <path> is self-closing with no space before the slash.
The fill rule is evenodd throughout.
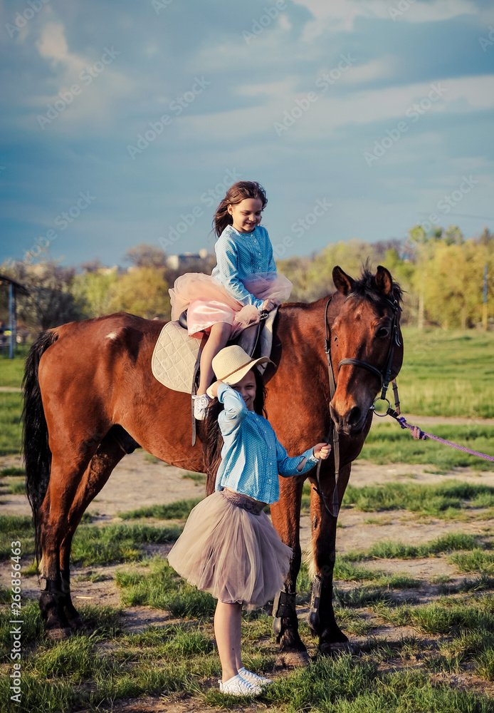
<path id="1" fill-rule="evenodd" d="M 251 610 L 283 589 L 291 557 L 266 513 L 249 512 L 221 491 L 191 511 L 168 561 L 198 589 Z"/>

